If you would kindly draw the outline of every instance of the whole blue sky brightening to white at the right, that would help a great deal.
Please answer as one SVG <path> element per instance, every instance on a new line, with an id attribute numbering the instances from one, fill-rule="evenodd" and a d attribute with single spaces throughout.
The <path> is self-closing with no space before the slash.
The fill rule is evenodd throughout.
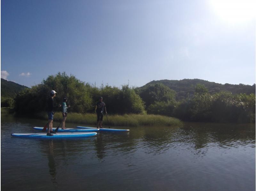
<path id="1" fill-rule="evenodd" d="M 1 78 L 255 83 L 253 0 L 1 0 Z"/>

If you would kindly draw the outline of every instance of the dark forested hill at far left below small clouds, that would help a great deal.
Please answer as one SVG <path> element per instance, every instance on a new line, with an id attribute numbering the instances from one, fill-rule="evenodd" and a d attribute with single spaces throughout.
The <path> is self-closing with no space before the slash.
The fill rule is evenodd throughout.
<path id="1" fill-rule="evenodd" d="M 1 78 L 1 98 L 14 98 L 21 90 L 28 88 Z"/>

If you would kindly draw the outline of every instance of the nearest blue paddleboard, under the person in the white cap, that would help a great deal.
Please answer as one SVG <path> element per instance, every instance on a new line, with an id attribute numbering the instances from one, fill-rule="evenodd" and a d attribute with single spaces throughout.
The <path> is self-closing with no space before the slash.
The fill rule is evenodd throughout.
<path id="1" fill-rule="evenodd" d="M 36 138 L 36 139 L 70 139 L 70 138 L 84 138 L 96 135 L 96 132 L 88 133 L 56 133 L 53 136 L 47 136 L 46 133 L 12 133 L 14 137 L 20 138 Z"/>

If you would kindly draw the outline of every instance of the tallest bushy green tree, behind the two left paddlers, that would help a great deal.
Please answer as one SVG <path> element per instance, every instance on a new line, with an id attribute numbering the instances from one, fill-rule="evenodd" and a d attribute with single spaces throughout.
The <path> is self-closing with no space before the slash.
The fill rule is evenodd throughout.
<path id="1" fill-rule="evenodd" d="M 84 82 L 77 80 L 74 76 L 68 76 L 65 72 L 51 75 L 41 84 L 32 86 L 20 92 L 15 98 L 15 111 L 18 113 L 38 113 L 47 110 L 47 99 L 50 91 L 55 90 L 57 96 L 54 98 L 56 104 L 68 96 L 68 102 L 74 112 L 87 112 L 92 108 L 90 88 Z"/>

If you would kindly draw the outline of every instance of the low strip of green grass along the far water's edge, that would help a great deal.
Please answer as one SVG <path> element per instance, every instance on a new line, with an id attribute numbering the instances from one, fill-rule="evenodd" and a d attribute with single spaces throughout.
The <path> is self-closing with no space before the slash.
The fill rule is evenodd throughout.
<path id="1" fill-rule="evenodd" d="M 1 108 L 1 114 L 10 114 L 12 111 L 8 108 Z M 47 120 L 46 112 L 38 113 L 34 118 Z M 62 113 L 54 114 L 54 121 L 61 121 Z M 68 113 L 66 122 L 79 123 L 86 125 L 96 125 L 97 115 L 95 113 Z M 125 114 L 111 115 L 103 117 L 103 126 L 179 126 L 182 122 L 173 117 L 149 114 Z"/>

